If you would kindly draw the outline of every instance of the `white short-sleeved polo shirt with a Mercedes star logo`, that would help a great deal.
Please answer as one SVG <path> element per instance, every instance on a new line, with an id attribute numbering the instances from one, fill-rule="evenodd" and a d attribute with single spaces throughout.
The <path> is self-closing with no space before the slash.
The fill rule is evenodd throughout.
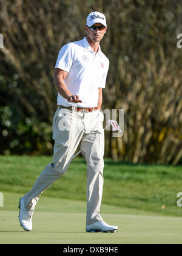
<path id="1" fill-rule="evenodd" d="M 67 102 L 59 93 L 57 103 L 64 106 L 97 107 L 98 88 L 104 88 L 109 69 L 109 59 L 99 50 L 93 52 L 87 38 L 67 43 L 59 51 L 55 68 L 66 71 L 64 82 L 70 93 L 78 95 L 82 103 Z"/>

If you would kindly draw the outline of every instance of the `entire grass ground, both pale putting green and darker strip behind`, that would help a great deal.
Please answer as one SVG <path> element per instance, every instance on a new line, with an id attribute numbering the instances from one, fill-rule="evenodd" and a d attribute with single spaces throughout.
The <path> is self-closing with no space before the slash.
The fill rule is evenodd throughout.
<path id="1" fill-rule="evenodd" d="M 19 197 L 30 190 L 50 157 L 0 157 L 0 243 L 181 243 L 181 166 L 127 165 L 106 160 L 101 214 L 117 233 L 86 233 L 86 163 L 42 194 L 32 232 L 18 221 Z"/>

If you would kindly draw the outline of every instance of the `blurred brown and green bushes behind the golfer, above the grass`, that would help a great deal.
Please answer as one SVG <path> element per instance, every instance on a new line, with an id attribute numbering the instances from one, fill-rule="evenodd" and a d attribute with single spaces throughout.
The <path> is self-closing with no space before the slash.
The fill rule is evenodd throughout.
<path id="1" fill-rule="evenodd" d="M 52 154 L 52 84 L 59 49 L 81 40 L 89 12 L 104 12 L 110 60 L 103 109 L 124 108 L 124 136 L 106 156 L 177 165 L 182 156 L 182 5 L 177 0 L 0 0 L 0 154 Z"/>

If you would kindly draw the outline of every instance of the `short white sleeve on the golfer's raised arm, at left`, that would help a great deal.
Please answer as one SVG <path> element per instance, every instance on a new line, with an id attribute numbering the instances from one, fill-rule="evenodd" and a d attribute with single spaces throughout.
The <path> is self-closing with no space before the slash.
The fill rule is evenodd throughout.
<path id="1" fill-rule="evenodd" d="M 73 47 L 71 43 L 62 46 L 58 54 L 55 68 L 60 68 L 69 73 L 73 63 Z"/>

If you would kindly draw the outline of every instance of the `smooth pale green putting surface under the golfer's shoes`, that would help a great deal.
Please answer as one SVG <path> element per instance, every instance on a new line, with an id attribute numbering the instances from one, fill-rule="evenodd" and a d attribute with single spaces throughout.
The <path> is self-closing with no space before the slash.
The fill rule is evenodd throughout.
<path id="1" fill-rule="evenodd" d="M 44 194 L 33 215 L 33 230 L 19 226 L 21 194 L 4 192 L 0 208 L 0 244 L 181 244 L 179 217 L 103 204 L 102 216 L 117 225 L 117 233 L 86 233 L 86 204 Z M 120 248 L 121 249 L 121 248 Z"/>

